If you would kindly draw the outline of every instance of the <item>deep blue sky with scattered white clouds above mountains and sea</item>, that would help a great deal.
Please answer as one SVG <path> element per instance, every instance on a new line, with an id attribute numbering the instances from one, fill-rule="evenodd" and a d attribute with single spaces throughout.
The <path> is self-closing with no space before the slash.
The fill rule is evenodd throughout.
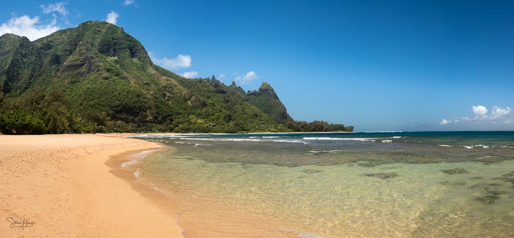
<path id="1" fill-rule="evenodd" d="M 513 1 L 8 1 L 0 35 L 123 27 L 152 61 L 356 131 L 514 130 Z"/>

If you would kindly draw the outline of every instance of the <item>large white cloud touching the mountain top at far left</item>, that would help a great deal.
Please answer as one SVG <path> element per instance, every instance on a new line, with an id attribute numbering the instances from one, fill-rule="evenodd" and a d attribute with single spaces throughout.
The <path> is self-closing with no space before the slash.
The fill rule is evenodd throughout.
<path id="1" fill-rule="evenodd" d="M 20 17 L 13 16 L 9 21 L 0 25 L 0 35 L 12 33 L 20 36 L 26 36 L 30 41 L 34 41 L 60 30 L 56 25 L 57 20 L 55 17 L 49 24 L 39 25 L 39 22 L 39 16 L 34 16 L 33 18 L 30 18 L 28 15 Z"/>

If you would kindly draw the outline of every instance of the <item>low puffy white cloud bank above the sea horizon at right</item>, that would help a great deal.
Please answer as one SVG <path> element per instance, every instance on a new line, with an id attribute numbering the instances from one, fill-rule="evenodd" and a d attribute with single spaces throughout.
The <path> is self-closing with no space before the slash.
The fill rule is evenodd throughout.
<path id="1" fill-rule="evenodd" d="M 454 124 L 512 124 L 514 125 L 514 113 L 510 107 L 502 108 L 499 106 L 492 107 L 491 113 L 482 105 L 471 106 L 473 116 L 455 116 L 454 119 L 443 119 L 440 125 L 454 125 Z"/>

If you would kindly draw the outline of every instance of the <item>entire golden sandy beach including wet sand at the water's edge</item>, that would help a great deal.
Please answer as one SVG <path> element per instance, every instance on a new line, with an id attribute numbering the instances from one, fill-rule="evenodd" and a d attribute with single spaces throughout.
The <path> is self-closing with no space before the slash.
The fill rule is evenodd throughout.
<path id="1" fill-rule="evenodd" d="M 0 237 L 296 237 L 224 201 L 137 182 L 121 168 L 128 156 L 173 148 L 126 135 L 0 135 Z"/>

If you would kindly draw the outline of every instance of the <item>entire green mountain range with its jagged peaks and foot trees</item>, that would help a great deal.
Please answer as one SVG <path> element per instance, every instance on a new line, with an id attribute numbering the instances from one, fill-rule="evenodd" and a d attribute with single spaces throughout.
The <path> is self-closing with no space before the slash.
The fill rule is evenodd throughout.
<path id="1" fill-rule="evenodd" d="M 282 124 L 291 117 L 266 85 L 246 95 L 214 76 L 179 76 L 154 65 L 137 39 L 106 22 L 33 42 L 0 36 L 3 133 L 291 131 Z"/>

